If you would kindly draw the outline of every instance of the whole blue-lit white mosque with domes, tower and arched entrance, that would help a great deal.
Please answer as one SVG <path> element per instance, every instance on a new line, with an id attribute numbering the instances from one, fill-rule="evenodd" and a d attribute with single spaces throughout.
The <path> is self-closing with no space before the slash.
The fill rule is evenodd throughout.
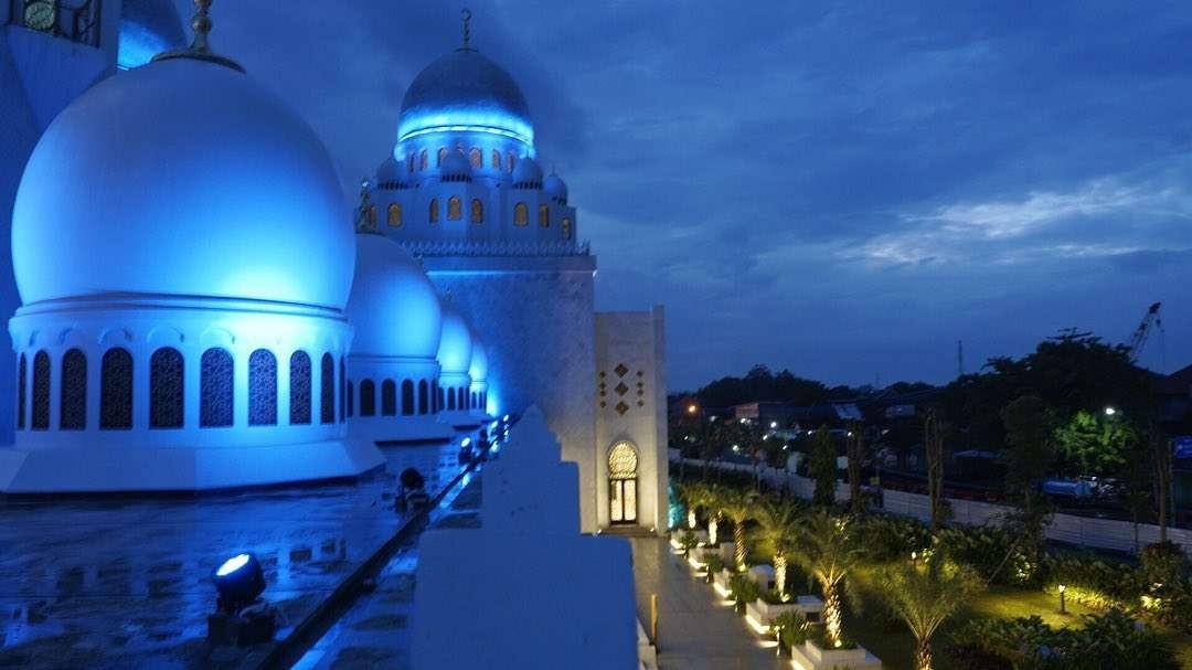
<path id="1" fill-rule="evenodd" d="M 536 405 L 584 532 L 665 531 L 663 310 L 595 310 L 567 186 L 466 20 L 349 201 L 210 4 L 190 45 L 170 0 L 0 5 L 0 491 L 359 477 Z"/>

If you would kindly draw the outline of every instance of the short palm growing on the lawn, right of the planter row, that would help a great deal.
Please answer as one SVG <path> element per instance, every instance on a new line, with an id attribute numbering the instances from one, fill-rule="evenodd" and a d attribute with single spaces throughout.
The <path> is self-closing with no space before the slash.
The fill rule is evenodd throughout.
<path id="1" fill-rule="evenodd" d="M 882 575 L 882 593 L 914 635 L 914 670 L 931 670 L 931 635 L 985 587 L 968 566 L 925 563 L 893 567 Z"/>

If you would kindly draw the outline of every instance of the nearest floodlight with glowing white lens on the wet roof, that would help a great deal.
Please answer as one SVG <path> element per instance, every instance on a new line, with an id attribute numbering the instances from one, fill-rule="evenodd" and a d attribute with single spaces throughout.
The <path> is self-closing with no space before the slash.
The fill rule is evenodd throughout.
<path id="1" fill-rule="evenodd" d="M 261 598 L 265 571 L 256 556 L 238 553 L 211 573 L 216 612 L 207 616 L 207 640 L 217 645 L 249 646 L 273 639 L 278 628 L 277 608 Z"/>

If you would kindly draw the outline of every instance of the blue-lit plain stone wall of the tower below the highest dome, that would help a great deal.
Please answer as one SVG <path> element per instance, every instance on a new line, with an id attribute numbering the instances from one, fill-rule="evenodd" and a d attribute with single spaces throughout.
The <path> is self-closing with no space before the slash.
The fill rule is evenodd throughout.
<path id="1" fill-rule="evenodd" d="M 595 259 L 428 258 L 424 266 L 485 343 L 490 411 L 542 409 L 564 460 L 579 466 L 582 528 L 595 531 Z"/>

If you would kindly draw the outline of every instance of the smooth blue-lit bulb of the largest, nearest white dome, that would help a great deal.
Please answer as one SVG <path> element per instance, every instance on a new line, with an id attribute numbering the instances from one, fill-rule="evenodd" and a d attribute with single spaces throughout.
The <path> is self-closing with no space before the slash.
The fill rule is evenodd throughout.
<path id="1" fill-rule="evenodd" d="M 37 143 L 13 209 L 21 300 L 213 296 L 342 309 L 349 207 L 315 131 L 217 63 L 92 87 Z"/>

